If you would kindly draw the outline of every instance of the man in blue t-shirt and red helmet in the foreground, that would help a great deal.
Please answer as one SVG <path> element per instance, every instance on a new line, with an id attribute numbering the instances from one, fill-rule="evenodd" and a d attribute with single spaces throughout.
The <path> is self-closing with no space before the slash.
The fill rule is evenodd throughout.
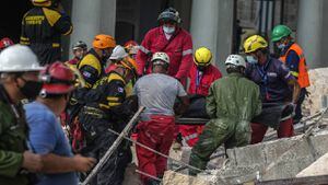
<path id="1" fill-rule="evenodd" d="M 66 108 L 74 89 L 74 73 L 56 61 L 42 72 L 44 85 L 36 101 L 25 104 L 30 126 L 30 148 L 42 154 L 44 167 L 38 185 L 78 185 L 75 172 L 87 172 L 96 162 L 93 158 L 73 155 L 71 147 L 57 119 Z"/>

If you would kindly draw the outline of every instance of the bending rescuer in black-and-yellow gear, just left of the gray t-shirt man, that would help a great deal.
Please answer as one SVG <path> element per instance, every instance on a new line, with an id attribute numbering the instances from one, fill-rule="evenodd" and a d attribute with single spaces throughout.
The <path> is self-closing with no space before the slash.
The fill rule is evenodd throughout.
<path id="1" fill-rule="evenodd" d="M 122 131 L 130 115 L 133 114 L 130 104 L 126 104 L 126 84 L 137 76 L 137 66 L 129 60 L 116 62 L 116 68 L 98 80 L 89 93 L 92 93 L 85 106 L 79 114 L 86 138 L 85 155 L 99 160 L 110 148 L 117 136 L 107 129 Z M 125 170 L 131 161 L 130 147 L 122 142 L 107 163 L 102 167 L 94 184 L 120 185 Z M 93 184 L 92 183 L 92 184 Z"/>

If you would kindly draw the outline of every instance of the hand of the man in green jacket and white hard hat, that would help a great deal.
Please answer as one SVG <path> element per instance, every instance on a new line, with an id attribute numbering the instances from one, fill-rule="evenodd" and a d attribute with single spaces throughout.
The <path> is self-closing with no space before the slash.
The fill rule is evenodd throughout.
<path id="1" fill-rule="evenodd" d="M 23 153 L 23 165 L 30 172 L 39 172 L 43 169 L 43 161 L 39 154 L 25 151 Z"/>

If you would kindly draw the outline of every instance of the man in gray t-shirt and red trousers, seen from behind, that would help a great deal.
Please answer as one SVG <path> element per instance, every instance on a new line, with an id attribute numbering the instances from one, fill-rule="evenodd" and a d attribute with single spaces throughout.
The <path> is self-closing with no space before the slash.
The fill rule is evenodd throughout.
<path id="1" fill-rule="evenodd" d="M 141 122 L 137 126 L 137 141 L 168 155 L 174 140 L 175 100 L 178 97 L 183 103 L 178 112 L 187 108 L 189 100 L 181 83 L 167 76 L 168 56 L 165 53 L 155 53 L 151 61 L 153 73 L 140 78 L 133 88 L 139 105 L 145 107 L 141 114 Z M 137 146 L 136 150 L 139 170 L 163 177 L 167 159 L 140 146 Z M 141 180 L 145 185 L 160 184 L 144 175 L 141 175 Z"/>

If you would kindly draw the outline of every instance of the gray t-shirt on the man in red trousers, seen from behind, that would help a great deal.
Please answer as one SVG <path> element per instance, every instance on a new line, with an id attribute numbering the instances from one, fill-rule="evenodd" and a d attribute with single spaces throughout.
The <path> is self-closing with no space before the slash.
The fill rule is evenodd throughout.
<path id="1" fill-rule="evenodd" d="M 177 96 L 186 96 L 184 86 L 175 78 L 162 73 L 151 73 L 140 78 L 134 88 L 139 105 L 145 109 L 141 117 L 147 115 L 174 115 L 174 103 Z"/>

